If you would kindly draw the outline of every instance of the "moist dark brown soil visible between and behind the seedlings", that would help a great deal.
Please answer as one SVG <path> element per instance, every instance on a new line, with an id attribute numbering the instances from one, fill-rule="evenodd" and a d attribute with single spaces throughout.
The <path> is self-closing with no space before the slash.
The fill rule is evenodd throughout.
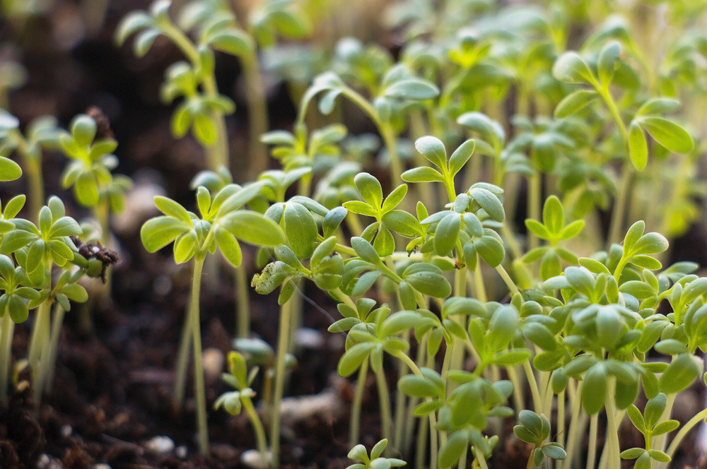
<path id="1" fill-rule="evenodd" d="M 78 18 L 78 2 L 57 1 L 45 16 L 23 23 L 0 16 L 0 57 L 22 61 L 29 73 L 25 87 L 11 94 L 10 111 L 23 125 L 42 114 L 54 114 L 66 126 L 75 114 L 98 106 L 110 119 L 119 141 L 116 154 L 120 165 L 116 172 L 132 176 L 147 194 L 151 188 L 161 187 L 164 194 L 193 206 L 189 180 L 204 169 L 202 151 L 191 138 L 175 141 L 170 136 L 170 109 L 158 101 L 163 71 L 182 57 L 161 39 L 143 59 L 136 59 L 129 47 L 118 49 L 112 42 L 119 19 L 128 11 L 147 6 L 146 1 L 112 1 L 103 28 L 76 33 L 76 37 L 66 25 Z M 387 45 L 395 48 L 395 44 Z M 239 174 L 247 138 L 243 86 L 233 57 L 219 55 L 217 63 L 219 88 L 238 105 L 236 114 L 228 118 L 228 130 L 234 155 L 231 170 Z M 295 111 L 284 86 L 271 88 L 269 107 L 271 127 L 287 129 Z M 366 123 L 349 124 L 354 133 L 371 130 Z M 47 194 L 62 196 L 69 214 L 82 218 L 88 215 L 86 210 L 71 206 L 71 194 L 59 188 L 64 164 L 61 155 L 45 154 Z M 22 179 L 0 186 L 3 200 L 21 191 Z M 211 411 L 211 454 L 207 458 L 196 454 L 193 398 L 188 395 L 181 412 L 173 409 L 170 400 L 190 269 L 175 266 L 170 249 L 146 253 L 139 239 L 139 225 L 151 213 L 130 204 L 128 210 L 132 210 L 131 216 L 114 226 L 120 261 L 112 275 L 112 296 L 106 297 L 105 287 L 96 281 L 88 285 L 93 290 L 90 303 L 75 305 L 66 314 L 52 392 L 35 409 L 31 390 L 23 382 L 29 379 L 25 371 L 19 375 L 20 384 L 8 405 L 0 408 L 2 469 L 107 469 L 96 466 L 101 463 L 112 469 L 240 468 L 245 467 L 240 463 L 243 451 L 255 447 L 245 415 L 232 417 L 223 411 Z M 706 238 L 705 233 L 692 230 L 675 244 L 673 260 L 707 265 Z M 245 252 L 249 265 L 252 254 Z M 226 266 L 221 266 L 221 271 L 218 278 L 205 278 L 201 302 L 204 348 L 213 349 L 211 356 L 215 357 L 217 350 L 221 354 L 231 350 L 235 330 L 233 280 Z M 255 269 L 250 275 L 253 273 Z M 337 317 L 334 305 L 321 292 L 305 287 L 304 293 Z M 252 292 L 250 300 L 253 331 L 275 343 L 276 296 Z M 298 408 L 315 395 L 330 407 L 318 408 L 309 415 L 286 413 L 282 466 L 345 468 L 351 463 L 346 453 L 348 409 L 354 389 L 350 381 L 338 378 L 336 373 L 343 341 L 327 333 L 331 323 L 327 315 L 307 303 L 304 307 L 303 326 L 317 331 L 320 335 L 315 337 L 321 340 L 297 350 L 298 365 L 291 372 L 287 392 L 303 400 L 291 408 Z M 30 316 L 30 321 L 16 328 L 16 358 L 26 355 L 31 320 Z M 390 388 L 395 389 L 395 373 L 390 372 L 388 378 Z M 675 406 L 685 410 L 684 415 L 677 415 L 682 422 L 703 408 L 703 391 L 697 391 L 703 386 L 695 389 Z M 207 376 L 209 403 L 223 391 L 226 386 L 218 376 Z M 640 434 L 627 422 L 621 427 L 621 446 L 640 446 Z M 503 423 L 501 440 L 489 464 L 492 468 L 525 467 L 530 448 L 515 438 L 512 427 L 513 422 Z M 379 424 L 372 376 L 367 382 L 361 428 L 361 442 L 373 446 L 378 441 Z M 154 437 L 169 437 L 176 448 L 165 454 L 151 451 L 148 441 Z M 602 438 L 600 434 L 600 443 Z M 686 439 L 686 451 L 672 467 L 706 468 L 704 461 L 698 461 L 694 447 L 694 437 Z M 632 465 L 632 461 L 624 461 L 623 467 Z"/>

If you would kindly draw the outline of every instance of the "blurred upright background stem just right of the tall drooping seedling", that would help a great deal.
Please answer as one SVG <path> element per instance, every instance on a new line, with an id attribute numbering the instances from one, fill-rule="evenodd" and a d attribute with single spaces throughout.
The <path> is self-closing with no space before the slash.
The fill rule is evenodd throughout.
<path id="1" fill-rule="evenodd" d="M 248 169 L 252 180 L 269 167 L 267 148 L 260 141 L 260 136 L 268 131 L 267 97 L 262 76 L 260 76 L 257 53 L 242 57 L 240 64 L 243 66 L 243 77 L 247 90 L 248 153 L 250 157 Z"/>

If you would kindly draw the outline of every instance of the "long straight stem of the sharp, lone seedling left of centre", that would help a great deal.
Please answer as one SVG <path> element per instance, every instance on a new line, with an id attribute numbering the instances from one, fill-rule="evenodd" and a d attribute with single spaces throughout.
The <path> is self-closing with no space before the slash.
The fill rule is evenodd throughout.
<path id="1" fill-rule="evenodd" d="M 201 271 L 204 269 L 206 254 L 194 256 L 194 278 L 192 279 L 192 299 L 189 305 L 189 319 L 192 323 L 192 343 L 194 344 L 194 395 L 197 399 L 197 429 L 199 432 L 199 453 L 209 454 L 209 427 L 206 424 L 206 390 L 204 386 L 204 362 L 201 357 L 201 318 L 199 315 L 199 295 L 201 293 Z"/>

